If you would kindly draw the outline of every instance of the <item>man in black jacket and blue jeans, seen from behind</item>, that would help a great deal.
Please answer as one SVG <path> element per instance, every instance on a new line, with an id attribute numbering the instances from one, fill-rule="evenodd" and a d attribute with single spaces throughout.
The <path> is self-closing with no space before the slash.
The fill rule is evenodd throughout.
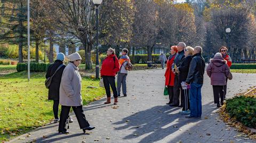
<path id="1" fill-rule="evenodd" d="M 187 85 L 190 85 L 189 101 L 190 101 L 190 117 L 201 117 L 202 115 L 202 94 L 201 88 L 204 81 L 205 60 L 202 57 L 202 47 L 196 46 L 194 49 L 193 59 L 190 63 Z"/>

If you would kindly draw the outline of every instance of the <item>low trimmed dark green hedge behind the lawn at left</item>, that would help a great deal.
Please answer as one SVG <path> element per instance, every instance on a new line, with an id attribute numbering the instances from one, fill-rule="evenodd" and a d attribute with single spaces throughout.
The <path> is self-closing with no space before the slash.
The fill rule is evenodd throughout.
<path id="1" fill-rule="evenodd" d="M 49 68 L 50 63 L 30 63 L 30 71 L 33 72 L 45 72 Z M 17 64 L 17 71 L 27 71 L 28 64 L 27 63 L 18 63 Z"/>

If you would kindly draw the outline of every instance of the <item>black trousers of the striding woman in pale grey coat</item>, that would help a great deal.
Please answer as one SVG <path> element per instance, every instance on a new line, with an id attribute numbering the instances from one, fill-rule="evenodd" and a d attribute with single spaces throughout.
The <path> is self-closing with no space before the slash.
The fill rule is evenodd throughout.
<path id="1" fill-rule="evenodd" d="M 61 106 L 61 112 L 60 112 L 60 123 L 59 123 L 59 131 L 66 131 L 65 129 L 65 124 L 68 119 L 68 114 L 70 111 L 71 106 Z M 84 129 L 86 127 L 89 127 L 90 124 L 88 121 L 85 119 L 84 111 L 83 111 L 83 106 L 72 106 L 73 111 L 76 114 L 76 119 L 78 121 L 80 129 Z"/>

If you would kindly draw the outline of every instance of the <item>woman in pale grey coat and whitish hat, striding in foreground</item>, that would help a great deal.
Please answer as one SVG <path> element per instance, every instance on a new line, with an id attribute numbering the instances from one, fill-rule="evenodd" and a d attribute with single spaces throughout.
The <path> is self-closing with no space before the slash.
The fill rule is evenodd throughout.
<path id="1" fill-rule="evenodd" d="M 68 56 L 69 63 L 62 73 L 61 83 L 60 83 L 60 123 L 59 123 L 59 133 L 69 133 L 65 129 L 65 123 L 68 118 L 70 108 L 72 107 L 79 127 L 83 129 L 85 133 L 86 130 L 92 130 L 88 121 L 85 119 L 83 111 L 83 100 L 81 96 L 82 88 L 82 78 L 78 72 L 78 66 L 81 63 L 81 56 L 78 53 L 73 53 Z"/>

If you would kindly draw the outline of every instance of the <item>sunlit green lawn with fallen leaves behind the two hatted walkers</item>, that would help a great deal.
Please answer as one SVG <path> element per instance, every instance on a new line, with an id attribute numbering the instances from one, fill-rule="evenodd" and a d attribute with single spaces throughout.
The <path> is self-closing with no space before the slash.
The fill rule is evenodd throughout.
<path id="1" fill-rule="evenodd" d="M 53 119 L 52 100 L 47 100 L 45 73 L 15 72 L 0 77 L 0 142 L 26 133 Z M 87 86 L 98 87 L 97 89 Z M 83 104 L 105 95 L 99 80 L 83 78 Z"/>

